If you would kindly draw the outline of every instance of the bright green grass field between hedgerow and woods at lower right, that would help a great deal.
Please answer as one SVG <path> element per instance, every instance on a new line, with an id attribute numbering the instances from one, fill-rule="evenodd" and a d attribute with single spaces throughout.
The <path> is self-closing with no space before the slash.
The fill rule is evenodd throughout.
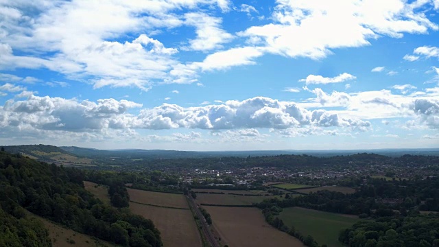
<path id="1" fill-rule="evenodd" d="M 311 235 L 319 245 L 327 244 L 331 247 L 343 246 L 341 242 L 338 242 L 338 234 L 342 229 L 359 221 L 353 215 L 327 213 L 300 207 L 283 209 L 279 218 L 286 226 L 294 226 L 302 235 Z"/>

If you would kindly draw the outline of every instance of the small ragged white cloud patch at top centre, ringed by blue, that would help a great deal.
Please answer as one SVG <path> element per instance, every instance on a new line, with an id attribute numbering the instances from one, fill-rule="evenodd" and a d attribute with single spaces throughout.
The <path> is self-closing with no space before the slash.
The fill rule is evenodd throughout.
<path id="1" fill-rule="evenodd" d="M 185 24 L 196 28 L 197 38 L 189 40 L 188 49 L 194 51 L 209 51 L 222 48 L 223 43 L 232 40 L 232 34 L 222 30 L 222 19 L 209 16 L 202 12 L 185 14 Z"/>

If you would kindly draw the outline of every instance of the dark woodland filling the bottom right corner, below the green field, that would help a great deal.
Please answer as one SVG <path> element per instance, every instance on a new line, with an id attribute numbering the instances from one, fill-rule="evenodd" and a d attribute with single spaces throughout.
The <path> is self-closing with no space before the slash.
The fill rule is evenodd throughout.
<path id="1" fill-rule="evenodd" d="M 340 242 L 353 247 L 439 246 L 439 215 L 381 217 L 361 221 L 340 233 Z"/>

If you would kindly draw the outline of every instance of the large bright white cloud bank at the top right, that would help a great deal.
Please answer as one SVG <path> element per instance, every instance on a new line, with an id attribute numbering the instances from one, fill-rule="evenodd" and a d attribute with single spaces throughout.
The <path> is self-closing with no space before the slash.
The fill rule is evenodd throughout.
<path id="1" fill-rule="evenodd" d="M 427 2 L 419 3 L 279 0 L 274 23 L 250 27 L 239 35 L 259 40 L 273 54 L 321 59 L 336 48 L 370 45 L 368 40 L 379 36 L 401 38 L 403 33 L 438 30 L 422 11 Z"/>

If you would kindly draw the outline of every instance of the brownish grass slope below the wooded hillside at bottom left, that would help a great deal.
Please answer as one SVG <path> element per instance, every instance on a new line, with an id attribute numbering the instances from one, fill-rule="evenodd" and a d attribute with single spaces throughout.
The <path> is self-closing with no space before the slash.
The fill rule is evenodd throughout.
<path id="1" fill-rule="evenodd" d="M 44 226 L 49 231 L 49 237 L 52 241 L 52 246 L 54 247 L 71 247 L 71 246 L 84 246 L 84 247 L 104 247 L 104 246 L 115 246 L 101 239 L 91 237 L 82 233 L 77 233 L 71 229 L 59 226 L 43 217 L 39 217 L 32 213 L 29 213 L 27 217 L 36 217 L 38 220 L 43 222 Z M 67 242 L 70 239 L 73 240 L 75 244 L 70 244 Z M 73 243 L 72 242 L 72 243 Z"/>

